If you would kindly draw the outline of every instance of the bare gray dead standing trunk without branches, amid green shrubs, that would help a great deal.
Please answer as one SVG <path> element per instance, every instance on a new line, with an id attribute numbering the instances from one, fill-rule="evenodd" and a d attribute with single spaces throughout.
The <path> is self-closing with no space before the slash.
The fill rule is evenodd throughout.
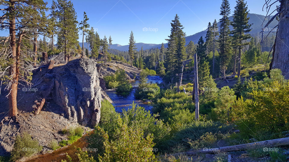
<path id="1" fill-rule="evenodd" d="M 194 90 L 195 90 L 195 118 L 199 120 L 199 83 L 198 83 L 198 65 L 197 53 L 194 55 Z"/>

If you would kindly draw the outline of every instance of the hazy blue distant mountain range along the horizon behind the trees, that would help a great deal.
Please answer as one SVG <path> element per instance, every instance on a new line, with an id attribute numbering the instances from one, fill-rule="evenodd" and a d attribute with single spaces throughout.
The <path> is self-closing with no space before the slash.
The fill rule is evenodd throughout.
<path id="1" fill-rule="evenodd" d="M 249 32 L 250 35 L 253 36 L 253 37 L 256 37 L 256 36 L 259 35 L 261 37 L 261 34 L 260 34 L 260 32 L 262 31 L 261 25 L 262 25 L 263 20 L 265 19 L 265 16 L 258 15 L 258 14 L 255 14 L 255 13 L 248 13 L 248 17 L 250 17 L 249 23 L 252 24 L 252 26 L 251 26 L 252 30 Z M 233 16 L 230 16 L 229 19 L 232 21 L 233 20 Z M 268 22 L 268 17 L 265 20 L 265 24 L 266 24 L 266 22 Z M 211 24 L 213 24 L 213 22 L 211 22 Z M 274 19 L 270 23 L 270 25 L 268 26 L 268 28 L 267 28 L 268 30 L 266 30 L 264 32 L 264 35 L 266 35 L 266 33 L 268 34 L 269 30 L 273 29 L 277 24 L 278 24 L 278 21 L 276 19 Z M 220 26 L 220 22 L 218 22 L 218 26 Z M 232 30 L 233 27 L 230 26 L 230 29 Z M 190 35 L 190 36 L 185 37 L 186 38 L 186 44 L 188 44 L 190 41 L 193 41 L 195 44 L 197 44 L 201 36 L 205 40 L 206 39 L 205 38 L 206 33 L 207 33 L 207 31 L 204 30 L 204 31 L 198 32 L 198 33 L 196 33 L 194 35 Z M 79 43 L 79 45 L 82 47 L 82 43 Z M 151 49 L 151 48 L 160 48 L 161 44 L 135 43 L 135 46 L 136 46 L 137 50 L 140 50 L 141 46 L 143 47 L 143 49 Z M 167 47 L 167 43 L 164 44 L 164 46 Z M 87 43 L 86 42 L 84 43 L 84 47 L 87 47 Z M 129 49 L 129 45 L 122 46 L 120 44 L 112 44 L 112 45 L 110 45 L 110 48 L 111 49 L 117 49 L 117 50 L 120 50 L 120 51 L 127 51 Z"/>

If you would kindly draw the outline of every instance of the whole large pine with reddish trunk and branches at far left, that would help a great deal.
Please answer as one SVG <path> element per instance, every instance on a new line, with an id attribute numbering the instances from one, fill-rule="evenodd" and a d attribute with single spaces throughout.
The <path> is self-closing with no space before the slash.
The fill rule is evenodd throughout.
<path id="1" fill-rule="evenodd" d="M 27 73 L 27 59 L 21 50 L 23 49 L 22 40 L 31 40 L 30 35 L 35 35 L 34 31 L 23 29 L 37 29 L 39 32 L 44 32 L 46 16 L 46 3 L 42 0 L 37 1 L 0 1 L 0 11 L 3 15 L 0 17 L 1 30 L 9 29 L 9 45 L 7 51 L 0 52 L 0 59 L 5 60 L 3 63 L 9 70 L 5 84 L 9 91 L 9 116 L 17 116 L 17 87 L 18 79 L 21 81 L 30 80 L 30 73 Z M 3 7 L 3 8 L 2 8 Z M 17 33 L 17 35 L 16 35 Z M 1 48 L 5 48 L 4 46 Z M 25 62 L 26 61 L 26 62 Z M 3 73 L 4 74 L 4 73 Z M 27 76 L 25 78 L 25 76 Z M 26 81 L 27 81 L 26 80 Z M 28 83 L 28 82 L 27 82 Z"/>

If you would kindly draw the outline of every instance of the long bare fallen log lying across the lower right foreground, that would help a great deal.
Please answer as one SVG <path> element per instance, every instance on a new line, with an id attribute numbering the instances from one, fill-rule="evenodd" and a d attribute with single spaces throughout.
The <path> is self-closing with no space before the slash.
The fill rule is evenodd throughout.
<path id="1" fill-rule="evenodd" d="M 247 149 L 255 149 L 259 147 L 264 147 L 264 149 L 266 149 L 266 147 L 278 147 L 278 146 L 286 146 L 286 145 L 289 145 L 289 137 L 278 138 L 274 140 L 260 141 L 260 142 L 253 142 L 253 143 L 246 143 L 246 144 L 234 145 L 234 146 L 225 146 L 225 147 L 219 147 L 219 148 L 213 148 L 213 149 L 204 148 L 198 151 L 189 151 L 189 152 L 186 152 L 186 154 L 188 155 L 195 155 L 199 153 L 215 154 L 217 152 L 244 151 Z"/>

